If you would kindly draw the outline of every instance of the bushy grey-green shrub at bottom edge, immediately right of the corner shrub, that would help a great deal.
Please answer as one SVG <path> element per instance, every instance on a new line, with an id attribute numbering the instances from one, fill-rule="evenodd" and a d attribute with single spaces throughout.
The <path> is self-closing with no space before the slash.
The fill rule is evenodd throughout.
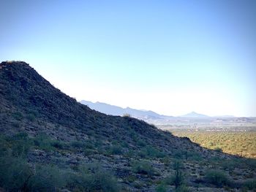
<path id="1" fill-rule="evenodd" d="M 64 174 L 56 166 L 37 166 L 29 179 L 29 191 L 56 191 L 66 185 Z"/>

